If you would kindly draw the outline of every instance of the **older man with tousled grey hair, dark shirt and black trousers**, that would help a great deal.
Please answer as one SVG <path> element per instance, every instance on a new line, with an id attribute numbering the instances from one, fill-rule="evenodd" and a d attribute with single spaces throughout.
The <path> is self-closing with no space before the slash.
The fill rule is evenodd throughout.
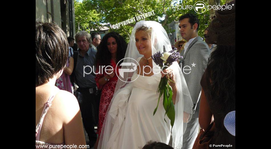
<path id="1" fill-rule="evenodd" d="M 98 90 L 95 81 L 96 74 L 94 74 L 97 51 L 90 47 L 90 43 L 93 42 L 91 35 L 86 31 L 78 32 L 75 35 L 75 41 L 78 44 L 79 51 L 74 51 L 74 68 L 71 80 L 74 86 L 76 84 L 79 87 L 75 92 L 75 96 L 79 102 L 83 124 L 90 141 L 87 145 L 92 148 L 97 139 L 94 125 L 97 125 L 99 121 L 101 98 L 101 92 Z"/>

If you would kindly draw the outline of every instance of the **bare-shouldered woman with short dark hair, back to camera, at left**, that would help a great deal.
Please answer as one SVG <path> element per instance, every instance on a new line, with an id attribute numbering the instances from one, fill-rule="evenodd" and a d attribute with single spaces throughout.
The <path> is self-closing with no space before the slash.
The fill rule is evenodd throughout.
<path id="1" fill-rule="evenodd" d="M 53 23 L 36 23 L 36 148 L 85 145 L 82 117 L 74 95 L 58 89 L 68 59 L 66 34 Z"/>

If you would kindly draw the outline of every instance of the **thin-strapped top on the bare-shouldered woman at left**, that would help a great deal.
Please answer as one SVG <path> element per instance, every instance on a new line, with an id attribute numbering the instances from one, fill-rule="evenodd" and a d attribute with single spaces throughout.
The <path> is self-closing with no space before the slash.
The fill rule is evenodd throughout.
<path id="1" fill-rule="evenodd" d="M 44 119 L 47 111 L 49 110 L 50 106 L 52 105 L 52 100 L 53 99 L 54 99 L 54 95 L 50 96 L 48 101 L 45 103 L 41 118 L 39 120 L 38 125 L 36 126 L 36 149 L 46 149 L 46 148 L 55 149 L 55 148 L 60 148 L 60 145 L 65 144 L 65 143 L 51 144 L 51 143 L 46 143 L 46 142 L 40 141 L 41 126 L 42 126 L 42 123 L 43 123 L 43 119 Z M 62 148 L 63 148 L 63 146 L 62 146 Z"/>

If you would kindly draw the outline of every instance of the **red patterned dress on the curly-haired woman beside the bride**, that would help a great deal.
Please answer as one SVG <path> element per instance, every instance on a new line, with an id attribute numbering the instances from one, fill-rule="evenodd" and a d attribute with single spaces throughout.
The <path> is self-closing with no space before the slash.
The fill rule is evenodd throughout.
<path id="1" fill-rule="evenodd" d="M 116 63 L 111 59 L 110 60 L 110 65 L 114 69 L 114 73 L 116 73 L 117 69 L 117 75 L 119 75 L 119 69 L 121 68 L 120 66 L 116 67 Z M 102 66 L 100 66 L 102 68 Z M 107 68 L 110 69 L 110 68 Z M 97 74 L 100 71 L 99 74 Z M 99 106 L 99 123 L 98 123 L 98 129 L 97 129 L 97 134 L 100 137 L 101 131 L 102 131 L 102 126 L 104 123 L 104 118 L 108 109 L 108 106 L 111 102 L 111 99 L 113 98 L 115 88 L 118 82 L 118 77 L 115 74 L 114 77 L 110 78 L 103 86 L 99 85 L 99 79 L 104 77 L 106 75 L 105 73 L 105 67 L 103 67 L 103 70 L 99 69 L 99 64 L 96 66 L 96 77 L 95 81 L 97 84 L 97 87 L 99 89 L 102 89 L 102 94 L 101 94 L 101 99 L 100 99 L 100 106 Z"/>

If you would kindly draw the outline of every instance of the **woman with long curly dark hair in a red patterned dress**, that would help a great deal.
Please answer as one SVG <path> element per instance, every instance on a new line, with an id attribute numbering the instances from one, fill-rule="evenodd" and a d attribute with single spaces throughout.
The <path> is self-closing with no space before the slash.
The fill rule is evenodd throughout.
<path id="1" fill-rule="evenodd" d="M 106 34 L 100 45 L 97 47 L 95 80 L 98 88 L 102 89 L 102 94 L 99 106 L 98 139 L 96 145 L 98 145 L 104 117 L 114 95 L 118 81 L 117 75 L 119 75 L 119 68 L 121 67 L 117 66 L 117 64 L 124 58 L 126 49 L 126 41 L 116 32 Z M 121 64 L 122 61 L 120 61 L 119 64 Z M 106 71 L 108 69 L 111 70 Z"/>

